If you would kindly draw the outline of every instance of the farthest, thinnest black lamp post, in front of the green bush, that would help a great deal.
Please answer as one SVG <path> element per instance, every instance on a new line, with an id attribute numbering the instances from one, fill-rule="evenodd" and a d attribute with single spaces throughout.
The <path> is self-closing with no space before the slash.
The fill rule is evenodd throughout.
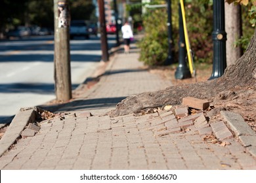
<path id="1" fill-rule="evenodd" d="M 173 63 L 173 35 L 172 35 L 172 29 L 173 26 L 171 24 L 171 0 L 167 0 L 167 14 L 168 14 L 168 20 L 167 20 L 167 27 L 168 27 L 168 56 L 165 60 L 165 65 L 170 65 Z"/>

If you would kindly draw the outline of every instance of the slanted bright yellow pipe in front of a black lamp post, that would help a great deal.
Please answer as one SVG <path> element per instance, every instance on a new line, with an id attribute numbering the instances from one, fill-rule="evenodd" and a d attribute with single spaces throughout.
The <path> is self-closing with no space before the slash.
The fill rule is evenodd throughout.
<path id="1" fill-rule="evenodd" d="M 188 53 L 188 65 L 189 65 L 190 73 L 192 75 L 194 73 L 193 66 L 192 66 L 192 56 L 191 56 L 192 54 L 190 51 L 190 42 L 188 40 L 188 30 L 186 29 L 186 18 L 185 18 L 185 9 L 184 9 L 183 0 L 181 0 L 181 12 L 182 12 L 184 36 L 185 36 L 185 42 L 186 42 L 186 52 Z"/>

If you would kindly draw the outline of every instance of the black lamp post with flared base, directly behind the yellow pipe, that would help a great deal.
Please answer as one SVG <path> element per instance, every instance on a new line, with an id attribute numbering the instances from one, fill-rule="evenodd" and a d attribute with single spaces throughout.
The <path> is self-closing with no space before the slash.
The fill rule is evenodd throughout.
<path id="1" fill-rule="evenodd" d="M 190 78 L 191 73 L 186 65 L 186 44 L 184 37 L 184 27 L 181 14 L 181 3 L 179 3 L 179 65 L 175 71 L 176 79 Z"/>

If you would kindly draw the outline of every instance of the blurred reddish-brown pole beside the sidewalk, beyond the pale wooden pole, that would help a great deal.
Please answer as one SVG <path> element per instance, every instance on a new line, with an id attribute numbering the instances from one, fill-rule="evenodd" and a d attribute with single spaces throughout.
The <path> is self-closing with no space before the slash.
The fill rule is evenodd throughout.
<path id="1" fill-rule="evenodd" d="M 98 12 L 100 14 L 100 41 L 102 50 L 102 60 L 108 61 L 108 39 L 106 35 L 106 20 L 105 20 L 105 7 L 104 0 L 98 0 Z"/>

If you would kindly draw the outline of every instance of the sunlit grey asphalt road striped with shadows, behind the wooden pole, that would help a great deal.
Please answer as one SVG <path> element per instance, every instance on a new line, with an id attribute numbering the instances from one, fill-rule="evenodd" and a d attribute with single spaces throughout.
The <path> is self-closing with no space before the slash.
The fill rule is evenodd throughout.
<path id="1" fill-rule="evenodd" d="M 109 48 L 115 44 L 108 38 Z M 101 59 L 100 39 L 70 41 L 72 88 L 93 74 Z M 55 98 L 53 36 L 0 41 L 0 124 L 21 107 Z"/>

